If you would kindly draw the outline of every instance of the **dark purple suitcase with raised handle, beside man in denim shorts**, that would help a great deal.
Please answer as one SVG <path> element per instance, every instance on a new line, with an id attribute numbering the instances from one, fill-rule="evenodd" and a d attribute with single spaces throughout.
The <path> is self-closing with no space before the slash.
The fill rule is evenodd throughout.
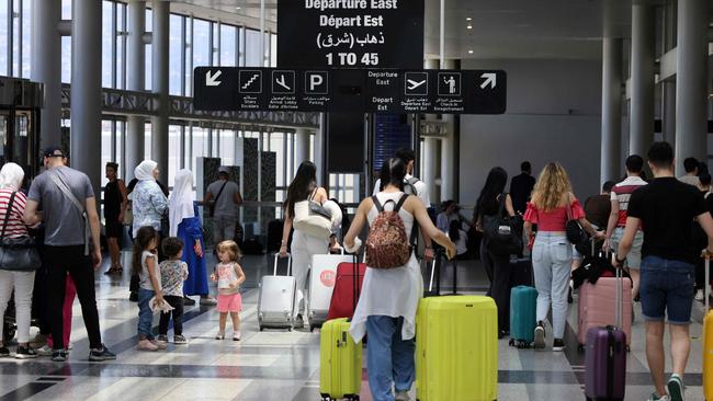
<path id="1" fill-rule="evenodd" d="M 618 287 L 623 278 L 618 270 Z M 621 325 L 621 290 L 616 291 L 616 322 Z M 587 331 L 585 396 L 588 400 L 624 400 L 626 389 L 626 333 L 615 326 Z"/>

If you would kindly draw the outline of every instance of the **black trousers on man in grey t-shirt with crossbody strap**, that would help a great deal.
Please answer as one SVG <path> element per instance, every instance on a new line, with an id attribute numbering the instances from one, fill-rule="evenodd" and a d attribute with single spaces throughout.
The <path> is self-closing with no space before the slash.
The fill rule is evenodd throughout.
<path id="1" fill-rule="evenodd" d="M 47 255 L 47 289 L 49 302 L 49 321 L 52 339 L 57 344 L 64 344 L 63 339 L 63 306 L 65 303 L 65 288 L 67 273 L 75 282 L 77 297 L 81 305 L 81 314 L 89 336 L 91 348 L 102 347 L 102 337 L 99 331 L 99 312 L 97 311 L 97 294 L 94 293 L 94 270 L 91 259 L 84 255 L 84 245 L 73 247 L 45 247 Z"/>

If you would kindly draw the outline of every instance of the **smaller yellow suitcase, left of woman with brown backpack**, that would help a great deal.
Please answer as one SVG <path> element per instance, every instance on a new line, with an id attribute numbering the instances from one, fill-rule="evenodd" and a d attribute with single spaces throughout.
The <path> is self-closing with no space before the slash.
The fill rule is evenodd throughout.
<path id="1" fill-rule="evenodd" d="M 326 321 L 319 331 L 319 393 L 322 400 L 359 400 L 362 343 L 349 335 L 348 319 Z"/>

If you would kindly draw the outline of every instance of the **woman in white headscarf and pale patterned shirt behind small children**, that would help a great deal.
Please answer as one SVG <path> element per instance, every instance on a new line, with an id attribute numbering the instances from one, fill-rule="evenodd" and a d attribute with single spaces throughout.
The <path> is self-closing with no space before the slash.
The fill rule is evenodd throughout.
<path id="1" fill-rule="evenodd" d="M 156 183 L 158 163 L 154 160 L 144 160 L 134 169 L 134 176 L 138 182 L 132 193 L 133 234 L 136 237 L 139 228 L 150 226 L 159 232 L 160 243 L 161 217 L 168 210 L 168 199 Z M 163 260 L 161 247 L 158 247 L 158 259 L 159 262 Z M 129 287 L 132 291 L 129 299 L 132 300 L 138 299 L 138 275 L 132 275 Z"/>

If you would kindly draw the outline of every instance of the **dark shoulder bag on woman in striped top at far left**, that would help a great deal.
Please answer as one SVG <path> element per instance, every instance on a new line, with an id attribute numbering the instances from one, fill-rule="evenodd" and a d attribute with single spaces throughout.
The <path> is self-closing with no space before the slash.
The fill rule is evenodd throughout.
<path id="1" fill-rule="evenodd" d="M 12 195 L 10 195 L 8 211 L 5 211 L 5 219 L 2 224 L 2 238 L 0 238 L 0 268 L 10 272 L 34 272 L 42 265 L 35 240 L 30 236 L 20 238 L 5 237 L 8 220 L 10 219 L 12 204 L 15 200 L 15 194 L 16 192 L 13 192 Z"/>

